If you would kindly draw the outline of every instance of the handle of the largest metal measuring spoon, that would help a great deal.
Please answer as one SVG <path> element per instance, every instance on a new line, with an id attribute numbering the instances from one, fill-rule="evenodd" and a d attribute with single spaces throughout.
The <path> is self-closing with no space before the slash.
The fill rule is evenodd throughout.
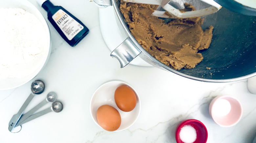
<path id="1" fill-rule="evenodd" d="M 9 122 L 9 127 L 8 130 L 11 132 L 13 130 L 13 128 L 16 126 L 18 120 L 20 119 L 20 116 L 22 115 L 22 113 L 24 112 L 25 108 L 28 106 L 28 104 L 31 102 L 31 100 L 33 99 L 35 95 L 33 93 L 31 93 L 29 95 L 29 97 L 27 98 L 27 100 L 23 103 L 23 105 L 21 106 L 20 110 L 18 111 L 17 114 L 13 115 L 10 122 Z"/>

